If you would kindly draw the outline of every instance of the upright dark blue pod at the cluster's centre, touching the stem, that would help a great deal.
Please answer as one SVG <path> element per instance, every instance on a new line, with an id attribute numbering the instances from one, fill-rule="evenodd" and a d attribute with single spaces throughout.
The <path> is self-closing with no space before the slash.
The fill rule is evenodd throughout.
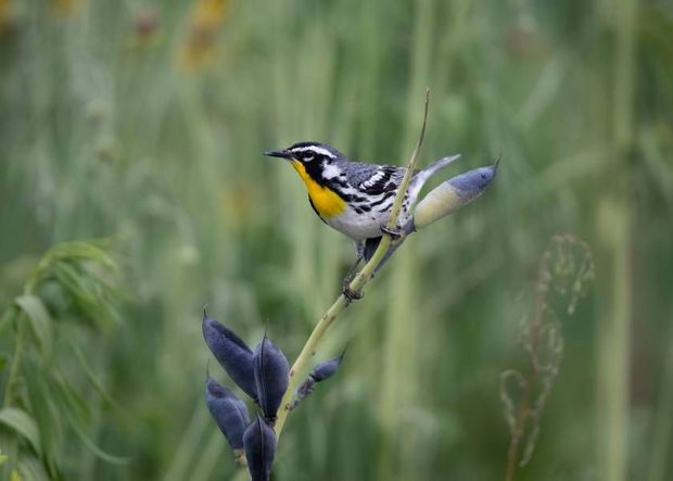
<path id="1" fill-rule="evenodd" d="M 276 420 L 276 413 L 288 390 L 290 365 L 280 349 L 264 334 L 262 342 L 255 347 L 254 374 L 257 398 L 264 417 Z"/>

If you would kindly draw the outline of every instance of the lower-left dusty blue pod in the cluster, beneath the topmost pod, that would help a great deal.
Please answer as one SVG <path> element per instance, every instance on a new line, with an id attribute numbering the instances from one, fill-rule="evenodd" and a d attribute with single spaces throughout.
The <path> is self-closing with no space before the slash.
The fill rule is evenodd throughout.
<path id="1" fill-rule="evenodd" d="M 243 432 L 250 425 L 245 403 L 229 389 L 208 376 L 205 404 L 232 450 L 243 448 Z"/>

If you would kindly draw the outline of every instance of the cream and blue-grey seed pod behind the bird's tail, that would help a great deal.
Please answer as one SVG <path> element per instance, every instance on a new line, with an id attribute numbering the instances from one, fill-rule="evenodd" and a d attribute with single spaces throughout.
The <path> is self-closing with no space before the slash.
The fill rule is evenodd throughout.
<path id="1" fill-rule="evenodd" d="M 468 170 L 442 182 L 416 206 L 414 228 L 428 226 L 477 199 L 493 182 L 496 172 L 497 163 Z"/>

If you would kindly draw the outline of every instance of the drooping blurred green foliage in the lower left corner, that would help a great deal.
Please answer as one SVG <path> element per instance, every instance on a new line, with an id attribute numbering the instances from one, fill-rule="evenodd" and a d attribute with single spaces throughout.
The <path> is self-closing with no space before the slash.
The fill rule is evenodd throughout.
<path id="1" fill-rule="evenodd" d="M 118 318 L 116 275 L 116 263 L 100 246 L 56 244 L 3 313 L 0 435 L 9 458 L 3 479 L 63 479 L 73 438 L 90 455 L 125 463 L 87 433 L 113 405 L 92 366 L 101 358 L 99 333 Z"/>

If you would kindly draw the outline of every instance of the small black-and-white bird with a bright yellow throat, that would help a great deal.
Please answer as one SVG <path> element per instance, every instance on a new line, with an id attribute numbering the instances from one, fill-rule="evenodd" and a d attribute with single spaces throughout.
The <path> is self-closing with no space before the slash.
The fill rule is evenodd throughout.
<path id="1" fill-rule="evenodd" d="M 358 294 L 347 289 L 355 268 L 360 261 L 371 257 L 383 232 L 397 235 L 385 225 L 406 167 L 352 161 L 333 147 L 319 142 L 299 142 L 265 154 L 289 161 L 304 181 L 308 202 L 316 214 L 355 242 L 356 260 L 344 279 L 344 295 L 357 299 Z M 399 224 L 408 218 L 409 207 L 416 203 L 426 181 L 459 156 L 440 159 L 414 173 Z"/>

